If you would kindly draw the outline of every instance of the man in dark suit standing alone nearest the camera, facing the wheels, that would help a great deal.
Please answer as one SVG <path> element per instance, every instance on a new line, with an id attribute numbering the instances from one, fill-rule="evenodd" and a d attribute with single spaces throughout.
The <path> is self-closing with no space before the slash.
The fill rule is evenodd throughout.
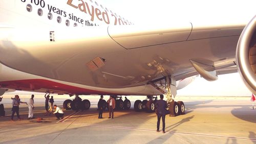
<path id="1" fill-rule="evenodd" d="M 156 113 L 157 113 L 157 132 L 160 132 L 159 131 L 159 126 L 160 126 L 160 119 L 162 117 L 162 123 L 163 123 L 163 133 L 165 133 L 165 115 L 167 114 L 167 110 L 166 110 L 166 106 L 167 106 L 167 103 L 166 101 L 163 100 L 163 95 L 161 94 L 160 95 L 160 100 L 158 100 L 156 102 L 156 107 L 157 107 L 157 110 L 156 110 Z"/>

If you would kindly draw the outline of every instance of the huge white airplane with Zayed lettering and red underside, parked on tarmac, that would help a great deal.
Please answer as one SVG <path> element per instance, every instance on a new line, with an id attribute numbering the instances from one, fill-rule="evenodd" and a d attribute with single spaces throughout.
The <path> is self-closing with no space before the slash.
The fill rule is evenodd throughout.
<path id="1" fill-rule="evenodd" d="M 165 94 L 172 115 L 184 114 L 177 90 L 198 75 L 215 81 L 239 71 L 256 93 L 256 16 L 249 22 L 139 26 L 94 0 L 0 2 L 0 95 L 24 90 L 75 95 L 146 95 L 134 109 L 154 111 Z M 90 108 L 90 101 L 63 108 Z"/>

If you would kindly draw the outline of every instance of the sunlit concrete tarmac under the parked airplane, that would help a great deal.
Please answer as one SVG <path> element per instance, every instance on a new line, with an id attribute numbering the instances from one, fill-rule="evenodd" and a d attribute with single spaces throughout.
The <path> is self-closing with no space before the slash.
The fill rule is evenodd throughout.
<path id="1" fill-rule="evenodd" d="M 54 95 L 58 98 L 58 95 Z M 20 96 L 22 101 L 28 97 Z M 86 97 L 85 97 L 86 98 Z M 145 97 L 127 97 L 132 102 Z M 256 110 L 252 110 L 249 97 L 177 97 L 185 104 L 184 115 L 166 115 L 166 133 L 156 132 L 155 113 L 130 110 L 114 112 L 114 118 L 98 119 L 99 96 L 88 96 L 90 110 L 64 110 L 65 118 L 44 116 L 44 98 L 35 98 L 34 116 L 43 118 L 27 120 L 28 107 L 20 105 L 11 122 L 11 100 L 5 97 L 6 116 L 0 117 L 0 143 L 256 143 Z M 105 100 L 108 97 L 104 98 Z M 65 98 L 55 99 L 62 107 Z M 162 123 L 160 123 L 160 129 Z"/>

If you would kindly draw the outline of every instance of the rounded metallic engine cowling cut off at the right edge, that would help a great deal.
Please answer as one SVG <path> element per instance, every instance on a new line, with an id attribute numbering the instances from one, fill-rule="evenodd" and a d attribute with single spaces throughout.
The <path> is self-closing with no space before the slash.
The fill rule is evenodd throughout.
<path id="1" fill-rule="evenodd" d="M 256 15 L 244 28 L 237 45 L 237 67 L 252 93 L 256 93 Z"/>

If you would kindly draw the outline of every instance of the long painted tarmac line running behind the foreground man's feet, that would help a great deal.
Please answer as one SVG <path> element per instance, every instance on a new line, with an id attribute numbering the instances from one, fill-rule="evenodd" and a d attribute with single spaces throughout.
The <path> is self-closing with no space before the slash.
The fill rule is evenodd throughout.
<path id="1" fill-rule="evenodd" d="M 71 124 L 67 122 L 62 122 L 63 124 Z M 140 131 L 152 131 L 156 132 L 156 130 L 152 129 L 141 129 L 141 128 L 130 128 L 130 127 L 118 127 L 118 126 L 106 126 L 106 125 L 94 125 L 94 124 L 83 124 L 83 123 L 72 123 L 75 125 L 82 126 L 91 126 L 91 127 L 101 127 L 101 128 L 115 128 L 115 129 L 125 129 L 125 130 L 140 130 Z M 256 141 L 256 138 L 247 138 L 247 137 L 236 137 L 236 136 L 223 136 L 223 135 L 213 135 L 213 134 L 201 134 L 201 133 L 189 133 L 189 132 L 173 132 L 173 131 L 165 131 L 166 133 L 172 134 L 185 134 L 185 135 L 195 135 L 195 136 L 207 136 L 207 137 L 217 137 L 217 138 L 229 138 L 229 139 L 241 139 L 241 140 L 251 140 Z"/>

